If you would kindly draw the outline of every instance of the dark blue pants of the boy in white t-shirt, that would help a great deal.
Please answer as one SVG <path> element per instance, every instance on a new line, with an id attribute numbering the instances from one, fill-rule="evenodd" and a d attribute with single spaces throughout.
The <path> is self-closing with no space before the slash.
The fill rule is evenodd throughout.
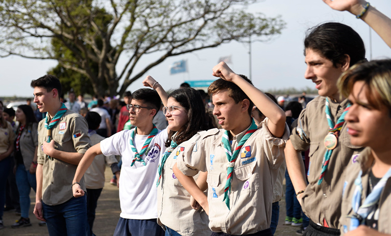
<path id="1" fill-rule="evenodd" d="M 164 230 L 157 224 L 157 219 L 119 218 L 114 236 L 164 236 Z"/>

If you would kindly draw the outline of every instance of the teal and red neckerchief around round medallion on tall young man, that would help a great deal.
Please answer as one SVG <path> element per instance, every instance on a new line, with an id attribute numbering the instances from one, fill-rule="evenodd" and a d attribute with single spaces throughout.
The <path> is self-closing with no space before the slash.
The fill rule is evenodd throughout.
<path id="1" fill-rule="evenodd" d="M 345 110 L 342 113 L 342 115 L 338 118 L 337 124 L 334 125 L 334 122 L 331 119 L 330 103 L 328 101 L 328 98 L 326 98 L 326 110 L 325 111 L 326 111 L 327 123 L 328 123 L 328 126 L 329 126 L 328 133 L 329 134 L 331 133 L 331 134 L 335 135 L 337 140 L 338 140 L 339 133 L 340 133 L 342 127 L 345 124 L 345 115 L 346 115 L 346 113 L 348 113 L 348 110 L 349 110 L 350 106 L 351 105 L 348 104 L 348 107 L 345 108 Z M 327 149 L 326 150 L 325 156 L 323 157 L 322 172 L 321 172 L 321 175 L 319 176 L 318 185 L 320 185 L 322 183 L 323 178 L 325 177 L 325 173 L 326 173 L 326 170 L 327 170 L 327 167 L 328 167 L 328 162 L 330 160 L 330 157 L 331 157 L 332 153 L 333 153 L 333 149 Z"/>

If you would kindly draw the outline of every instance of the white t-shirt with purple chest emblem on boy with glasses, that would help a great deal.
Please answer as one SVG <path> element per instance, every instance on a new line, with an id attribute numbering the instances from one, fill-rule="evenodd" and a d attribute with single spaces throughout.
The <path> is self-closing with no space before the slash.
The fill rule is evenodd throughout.
<path id="1" fill-rule="evenodd" d="M 166 151 L 167 129 L 153 137 L 146 153 L 141 155 L 145 161 L 136 161 L 131 167 L 134 152 L 130 148 L 130 130 L 122 130 L 101 141 L 101 150 L 105 156 L 121 155 L 122 168 L 119 178 L 120 216 L 125 219 L 157 218 L 157 166 L 161 153 Z M 138 151 L 142 149 L 148 135 L 136 134 L 133 144 Z"/>

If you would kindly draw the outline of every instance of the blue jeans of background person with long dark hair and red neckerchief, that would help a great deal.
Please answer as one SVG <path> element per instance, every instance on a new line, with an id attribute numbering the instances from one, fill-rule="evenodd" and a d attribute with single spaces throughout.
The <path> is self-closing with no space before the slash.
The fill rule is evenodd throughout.
<path id="1" fill-rule="evenodd" d="M 33 188 L 34 192 L 37 192 L 37 180 L 35 174 L 31 174 L 29 170 L 26 171 L 23 164 L 18 165 L 15 177 L 19 191 L 19 202 L 21 203 L 21 216 L 23 218 L 28 218 L 28 212 L 30 210 L 30 190 Z"/>

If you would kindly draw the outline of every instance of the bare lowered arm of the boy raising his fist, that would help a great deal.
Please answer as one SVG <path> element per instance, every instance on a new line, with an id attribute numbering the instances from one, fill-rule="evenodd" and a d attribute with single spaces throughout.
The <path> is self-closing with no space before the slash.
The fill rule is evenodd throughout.
<path id="1" fill-rule="evenodd" d="M 198 188 L 198 185 L 195 183 L 194 178 L 191 176 L 184 175 L 181 171 L 179 171 L 178 167 L 176 166 L 176 163 L 173 167 L 173 172 L 176 176 L 176 178 L 179 180 L 179 182 L 182 184 L 183 188 L 186 189 L 187 192 L 190 193 L 194 197 L 194 199 L 201 205 L 201 207 L 204 207 L 206 204 L 208 204 L 208 199 Z M 207 172 L 205 172 L 207 173 Z M 199 176 L 202 178 L 202 176 Z"/>

